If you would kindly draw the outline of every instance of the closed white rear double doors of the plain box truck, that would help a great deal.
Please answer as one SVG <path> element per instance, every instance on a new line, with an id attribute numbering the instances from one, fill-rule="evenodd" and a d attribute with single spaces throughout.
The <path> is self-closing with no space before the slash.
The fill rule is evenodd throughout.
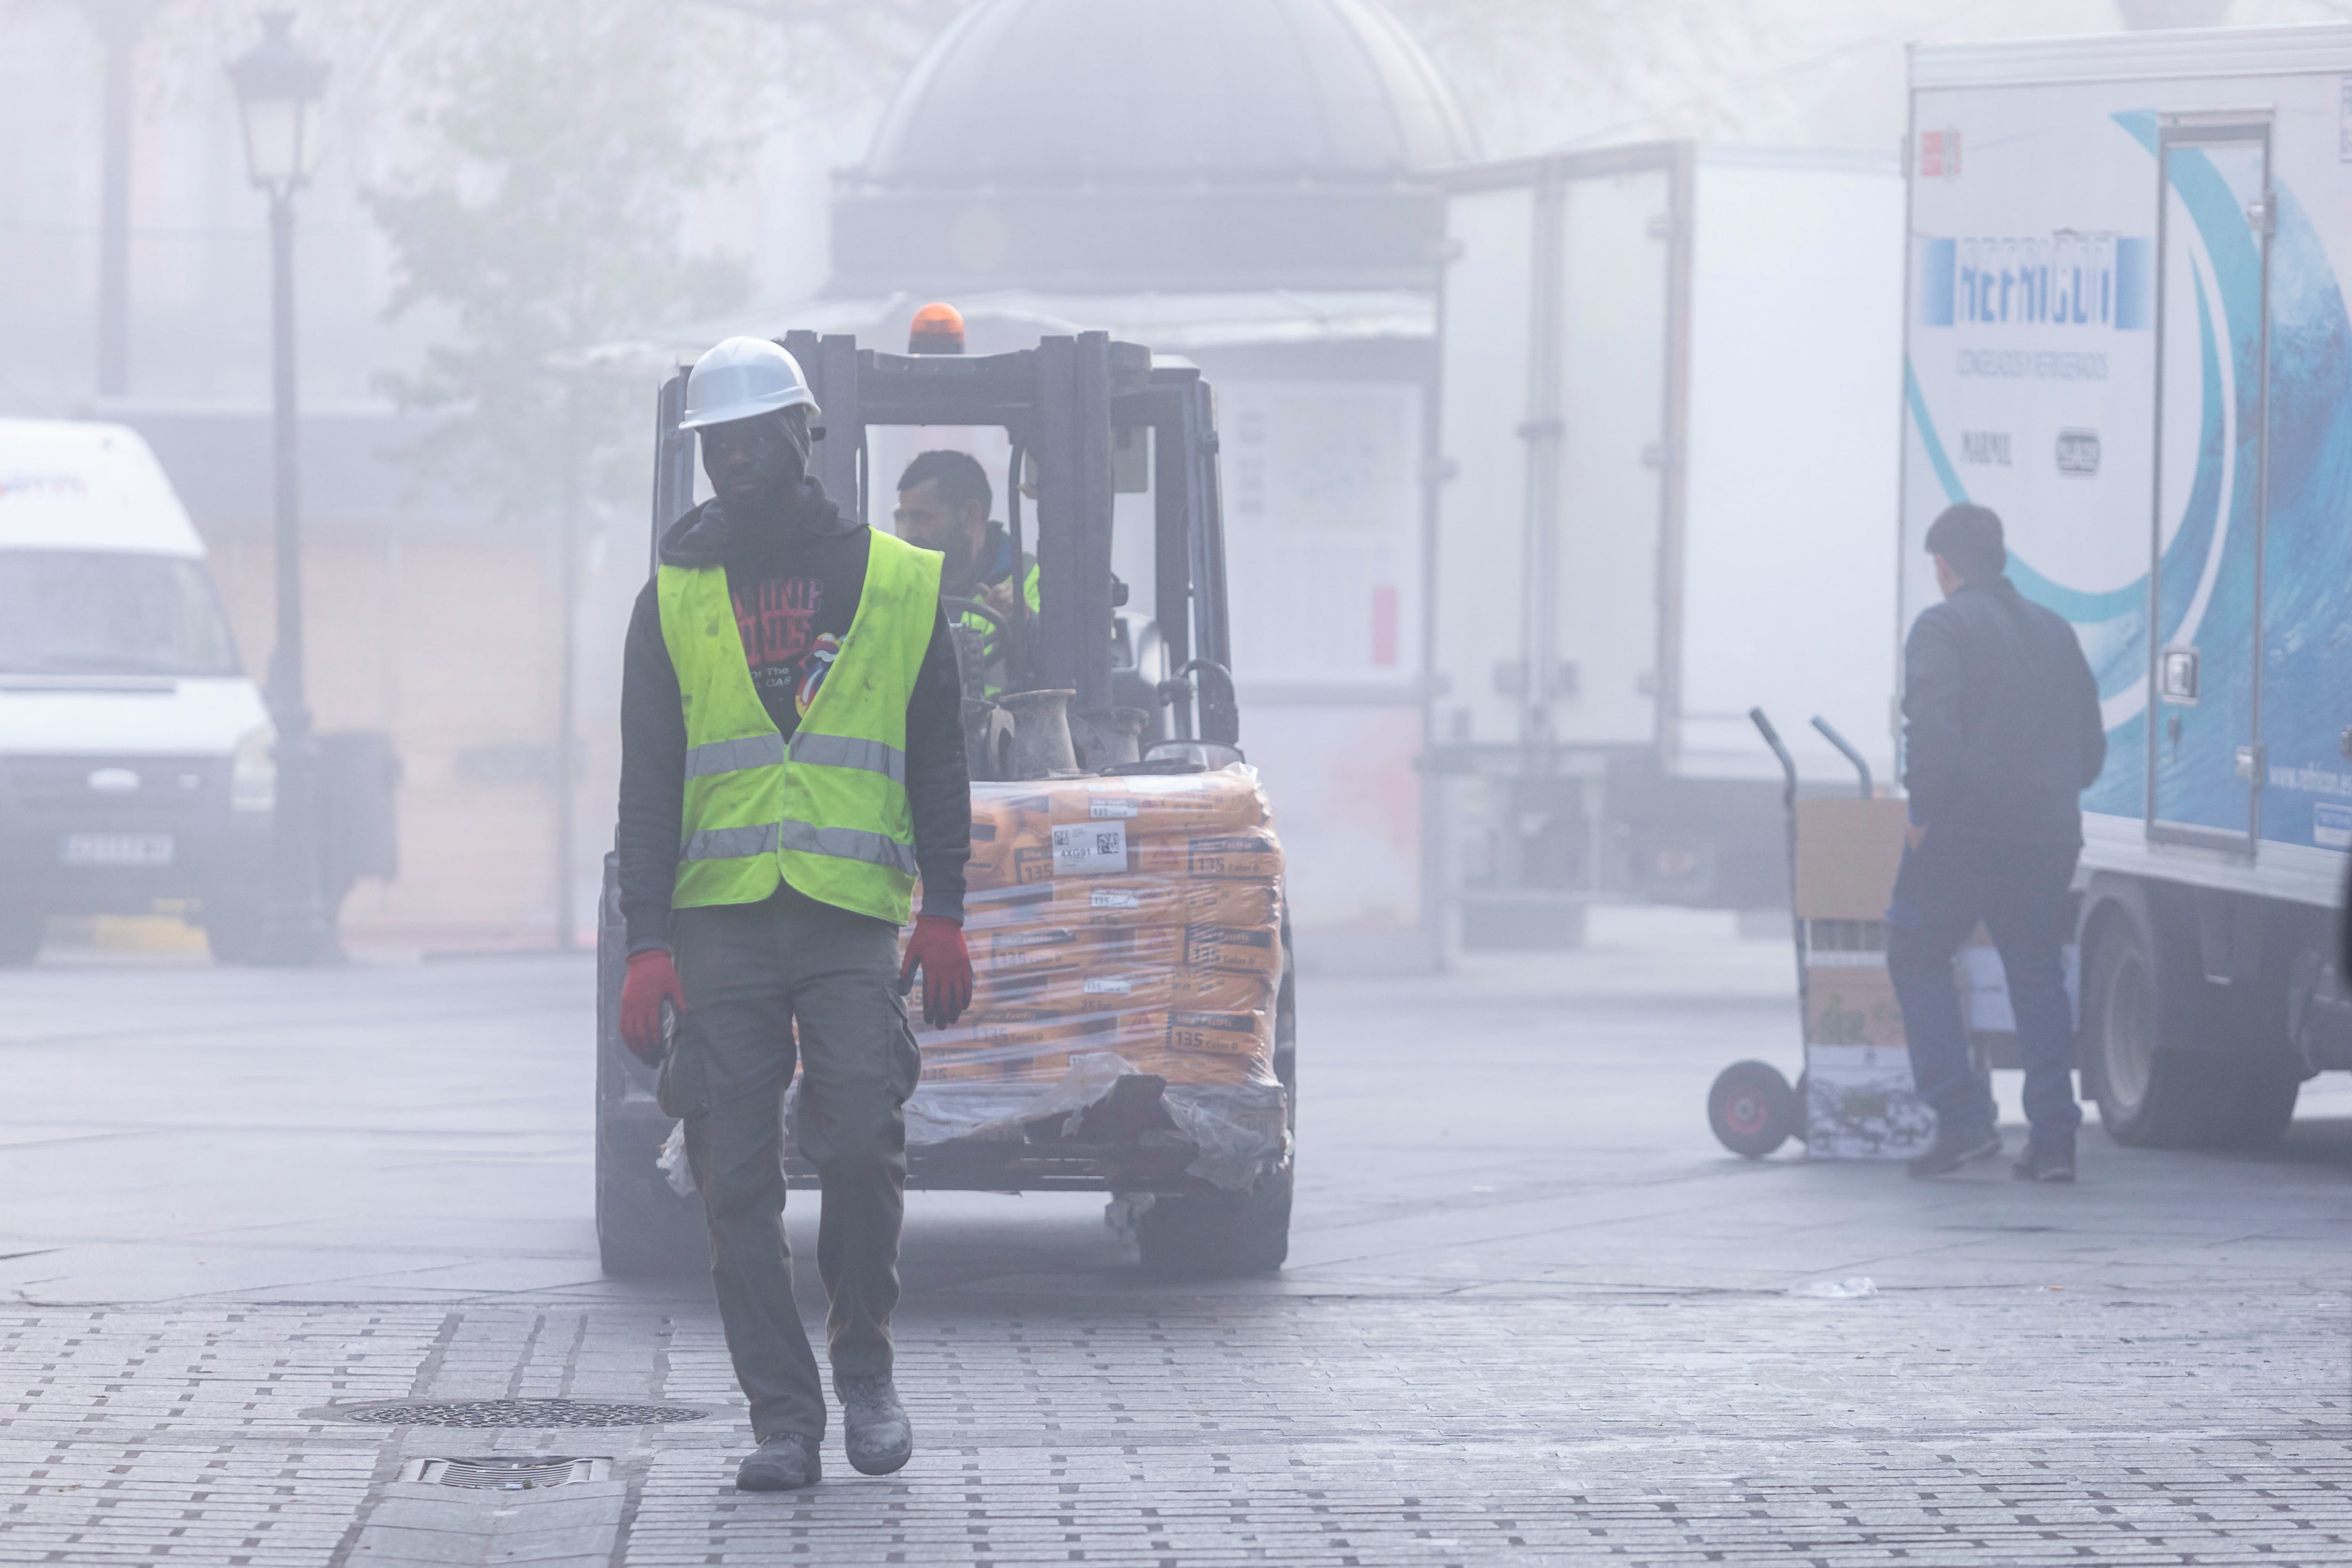
<path id="1" fill-rule="evenodd" d="M 1675 162 L 1588 165 L 1449 200 L 1437 649 L 1454 743 L 1658 738 Z"/>

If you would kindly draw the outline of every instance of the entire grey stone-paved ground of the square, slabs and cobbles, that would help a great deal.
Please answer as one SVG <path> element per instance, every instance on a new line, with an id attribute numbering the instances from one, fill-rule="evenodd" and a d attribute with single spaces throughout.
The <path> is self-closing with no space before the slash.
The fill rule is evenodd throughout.
<path id="1" fill-rule="evenodd" d="M 2072 1192 L 1743 1164 L 1698 1093 L 1790 1056 L 1764 954 L 1310 987 L 1272 1281 L 910 1199 L 917 1458 L 797 1495 L 731 1488 L 708 1288 L 595 1274 L 579 966 L 12 978 L 0 1563 L 2352 1563 L 2352 1095 Z M 706 1415 L 339 1415 L 405 1396 Z M 612 1465 L 405 1479 L 477 1455 Z"/>

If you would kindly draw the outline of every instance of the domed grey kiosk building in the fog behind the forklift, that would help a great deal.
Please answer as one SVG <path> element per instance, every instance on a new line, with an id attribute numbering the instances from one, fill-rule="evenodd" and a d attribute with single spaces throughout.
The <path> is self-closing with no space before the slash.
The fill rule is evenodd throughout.
<path id="1" fill-rule="evenodd" d="M 790 322 L 901 348 L 913 310 L 943 299 L 971 353 L 1108 329 L 1202 367 L 1242 743 L 1282 809 L 1294 926 L 1324 964 L 1437 952 L 1414 771 L 1432 174 L 1475 155 L 1437 68 L 1376 0 L 974 0 L 837 176 L 833 277 Z M 877 491 L 922 444 L 1004 473 L 995 433 L 870 440 Z M 1115 534 L 1134 583 L 1150 562 L 1124 522 Z"/>

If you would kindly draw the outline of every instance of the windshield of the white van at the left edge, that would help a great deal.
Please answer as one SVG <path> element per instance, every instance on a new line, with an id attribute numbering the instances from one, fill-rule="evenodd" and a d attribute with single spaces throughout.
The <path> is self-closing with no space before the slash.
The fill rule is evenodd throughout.
<path id="1" fill-rule="evenodd" d="M 240 675 L 205 562 L 0 550 L 0 675 Z"/>

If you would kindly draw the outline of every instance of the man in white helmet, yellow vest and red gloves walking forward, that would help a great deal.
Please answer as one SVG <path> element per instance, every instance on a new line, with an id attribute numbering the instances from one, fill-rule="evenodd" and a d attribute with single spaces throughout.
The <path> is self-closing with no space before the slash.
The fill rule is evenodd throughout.
<path id="1" fill-rule="evenodd" d="M 920 969 L 934 1025 L 971 1001 L 971 785 L 941 557 L 842 517 L 809 475 L 814 414 L 776 343 L 727 339 L 694 364 L 682 423 L 717 494 L 661 536 L 621 679 L 621 1034 L 661 1063 L 710 1215 L 760 1439 L 736 1472 L 746 1490 L 816 1481 L 826 1434 L 783 1239 L 795 1056 L 844 1446 L 889 1474 L 915 1446 L 889 1338 L 920 1074 L 901 997 Z M 680 1020 L 666 1056 L 663 1004 Z"/>

